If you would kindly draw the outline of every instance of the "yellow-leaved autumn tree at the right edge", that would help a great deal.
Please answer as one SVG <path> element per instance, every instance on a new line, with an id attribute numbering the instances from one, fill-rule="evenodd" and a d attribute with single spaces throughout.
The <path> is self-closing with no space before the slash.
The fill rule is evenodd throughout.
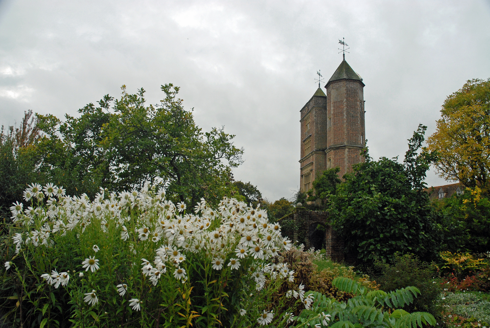
<path id="1" fill-rule="evenodd" d="M 490 79 L 468 80 L 447 96 L 437 121 L 437 131 L 427 139 L 437 151 L 439 175 L 478 186 L 489 193 L 490 174 Z"/>

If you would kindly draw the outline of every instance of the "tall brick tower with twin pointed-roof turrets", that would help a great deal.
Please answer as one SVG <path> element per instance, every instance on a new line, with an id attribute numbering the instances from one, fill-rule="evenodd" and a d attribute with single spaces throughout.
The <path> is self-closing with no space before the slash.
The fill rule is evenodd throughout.
<path id="1" fill-rule="evenodd" d="M 364 161 L 360 156 L 366 140 L 364 83 L 345 60 L 328 83 L 326 94 L 318 88 L 301 109 L 300 190 L 330 167 L 340 167 L 339 176 Z"/>

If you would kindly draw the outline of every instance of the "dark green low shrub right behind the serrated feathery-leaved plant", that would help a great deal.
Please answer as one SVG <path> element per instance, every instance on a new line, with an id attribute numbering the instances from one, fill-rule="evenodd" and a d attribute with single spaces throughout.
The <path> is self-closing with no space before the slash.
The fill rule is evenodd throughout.
<path id="1" fill-rule="evenodd" d="M 382 272 L 376 280 L 382 290 L 393 291 L 407 286 L 420 290 L 421 295 L 414 303 L 404 307 L 406 311 L 427 311 L 440 316 L 441 278 L 434 263 L 422 262 L 413 254 L 397 253 L 391 263 L 378 261 L 375 268 Z"/>

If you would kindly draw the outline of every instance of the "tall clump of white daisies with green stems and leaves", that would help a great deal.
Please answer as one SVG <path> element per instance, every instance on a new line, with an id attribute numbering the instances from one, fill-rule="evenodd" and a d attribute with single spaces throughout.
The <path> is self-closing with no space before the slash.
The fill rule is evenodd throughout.
<path id="1" fill-rule="evenodd" d="M 24 199 L 27 208 L 11 207 L 4 252 L 3 320 L 13 326 L 283 327 L 292 320 L 285 297 L 275 294 L 294 281 L 277 260 L 291 243 L 260 208 L 224 198 L 215 210 L 201 199 L 189 213 L 148 184 L 118 195 L 101 188 L 93 201 L 32 184 Z M 288 296 L 304 303 L 303 289 Z"/>

